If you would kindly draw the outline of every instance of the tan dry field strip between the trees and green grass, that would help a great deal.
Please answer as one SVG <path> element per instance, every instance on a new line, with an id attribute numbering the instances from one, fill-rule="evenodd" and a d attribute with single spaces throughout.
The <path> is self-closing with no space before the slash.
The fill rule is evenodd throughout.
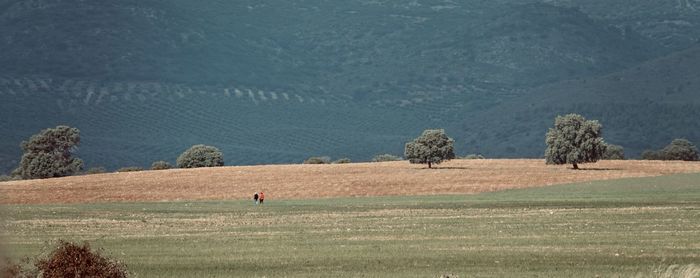
<path id="1" fill-rule="evenodd" d="M 174 169 L 0 183 L 2 204 L 268 200 L 491 192 L 552 184 L 700 172 L 698 162 L 601 161 L 582 171 L 536 159 L 454 160 L 427 169 L 408 162 Z"/>

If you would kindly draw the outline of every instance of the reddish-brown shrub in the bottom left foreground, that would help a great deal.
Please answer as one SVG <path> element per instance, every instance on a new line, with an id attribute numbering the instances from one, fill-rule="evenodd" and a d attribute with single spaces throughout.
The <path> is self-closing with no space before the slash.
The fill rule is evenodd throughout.
<path id="1" fill-rule="evenodd" d="M 41 277 L 128 277 L 126 266 L 90 249 L 84 243 L 78 245 L 60 240 L 58 246 L 46 258 L 34 264 Z"/>

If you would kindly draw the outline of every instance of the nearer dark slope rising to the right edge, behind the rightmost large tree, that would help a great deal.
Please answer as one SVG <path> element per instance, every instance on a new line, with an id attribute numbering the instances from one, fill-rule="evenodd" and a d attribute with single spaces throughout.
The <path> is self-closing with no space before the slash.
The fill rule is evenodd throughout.
<path id="1" fill-rule="evenodd" d="M 699 70 L 694 47 L 620 73 L 542 86 L 464 121 L 465 148 L 541 156 L 547 128 L 566 113 L 599 120 L 605 139 L 629 156 L 674 138 L 700 142 Z"/>

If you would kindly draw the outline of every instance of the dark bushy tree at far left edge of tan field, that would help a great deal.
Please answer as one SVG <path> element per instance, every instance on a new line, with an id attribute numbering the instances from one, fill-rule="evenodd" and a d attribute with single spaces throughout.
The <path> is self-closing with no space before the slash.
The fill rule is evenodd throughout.
<path id="1" fill-rule="evenodd" d="M 83 161 L 73 157 L 80 144 L 80 130 L 68 126 L 47 128 L 21 144 L 22 160 L 13 176 L 23 179 L 70 176 L 80 172 Z"/>

